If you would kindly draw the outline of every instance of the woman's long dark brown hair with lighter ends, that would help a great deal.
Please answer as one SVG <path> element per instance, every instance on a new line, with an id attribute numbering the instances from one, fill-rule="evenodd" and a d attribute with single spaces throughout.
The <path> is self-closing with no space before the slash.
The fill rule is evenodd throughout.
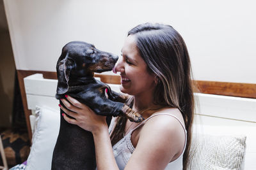
<path id="1" fill-rule="evenodd" d="M 184 118 L 187 131 L 183 169 L 188 164 L 191 145 L 191 127 L 194 117 L 194 98 L 191 82 L 191 64 L 186 44 L 180 34 L 170 25 L 140 24 L 128 32 L 136 36 L 140 56 L 148 66 L 148 72 L 159 78 L 154 91 L 154 104 L 178 108 Z M 132 106 L 132 98 L 127 101 Z M 123 137 L 127 118 L 119 117 L 111 142 Z"/>

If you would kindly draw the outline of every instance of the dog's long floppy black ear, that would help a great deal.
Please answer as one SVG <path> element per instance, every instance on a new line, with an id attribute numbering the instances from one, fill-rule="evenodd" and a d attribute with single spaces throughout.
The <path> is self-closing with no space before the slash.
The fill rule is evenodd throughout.
<path id="1" fill-rule="evenodd" d="M 74 60 L 68 59 L 68 57 L 65 57 L 63 60 L 58 60 L 56 66 L 58 76 L 57 94 L 65 94 L 65 92 L 67 92 L 70 72 L 74 67 Z"/>

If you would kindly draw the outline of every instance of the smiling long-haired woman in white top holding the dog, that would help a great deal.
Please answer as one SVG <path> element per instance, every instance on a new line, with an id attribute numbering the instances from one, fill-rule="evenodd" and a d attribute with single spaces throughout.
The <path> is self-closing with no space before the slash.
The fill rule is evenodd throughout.
<path id="1" fill-rule="evenodd" d="M 120 90 L 145 118 L 134 123 L 124 117 L 106 119 L 67 97 L 63 117 L 91 131 L 97 169 L 186 169 L 193 122 L 193 91 L 188 50 L 170 25 L 141 24 L 129 31 L 122 57 L 113 69 L 120 72 Z M 113 146 L 113 148 L 112 148 Z M 182 161 L 183 160 L 183 161 Z"/>

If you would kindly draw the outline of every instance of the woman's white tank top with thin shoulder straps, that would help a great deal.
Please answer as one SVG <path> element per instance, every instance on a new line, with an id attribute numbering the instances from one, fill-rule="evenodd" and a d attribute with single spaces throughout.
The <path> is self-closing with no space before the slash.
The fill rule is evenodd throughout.
<path id="1" fill-rule="evenodd" d="M 146 120 L 144 120 L 140 125 L 138 125 L 137 127 L 135 127 L 134 129 L 132 129 L 129 133 L 127 133 L 124 138 L 120 139 L 120 141 L 118 141 L 118 143 L 116 143 L 113 146 L 113 153 L 114 153 L 114 157 L 116 160 L 116 163 L 118 165 L 119 169 L 124 169 L 128 160 L 130 159 L 132 153 L 134 152 L 134 146 L 132 145 L 131 142 L 131 134 L 132 132 L 137 129 L 138 127 L 140 127 L 141 125 L 145 124 L 145 122 L 147 122 L 148 119 L 155 117 L 157 115 L 170 115 L 171 117 L 176 118 L 180 124 L 182 125 L 184 132 L 185 132 L 185 145 L 183 148 L 182 153 L 180 154 L 180 156 L 173 160 L 172 162 L 170 162 L 166 167 L 165 170 L 182 170 L 183 167 L 183 163 L 182 163 L 182 159 L 183 159 L 183 153 L 185 151 L 186 148 L 186 143 L 187 143 L 187 131 L 186 128 L 184 127 L 184 125 L 182 124 L 182 122 L 179 120 L 179 118 L 175 117 L 174 115 L 171 115 L 169 113 L 158 113 L 156 115 L 152 115 L 151 117 L 148 117 Z M 109 134 L 113 129 L 113 126 L 115 124 L 115 118 L 112 119 L 111 124 L 109 125 Z"/>

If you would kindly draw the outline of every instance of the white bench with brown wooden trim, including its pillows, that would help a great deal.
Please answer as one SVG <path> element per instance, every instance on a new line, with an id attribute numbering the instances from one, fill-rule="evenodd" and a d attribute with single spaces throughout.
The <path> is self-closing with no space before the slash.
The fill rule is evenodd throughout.
<path id="1" fill-rule="evenodd" d="M 18 75 L 31 137 L 26 169 L 51 169 L 60 126 L 58 100 L 54 97 L 56 73 L 20 71 Z M 95 76 L 120 92 L 118 76 Z M 232 87 L 220 90 L 221 82 L 196 83 L 201 92 L 195 93 L 196 115 L 188 169 L 256 169 L 256 86 L 232 83 L 236 90 L 230 92 Z"/>

